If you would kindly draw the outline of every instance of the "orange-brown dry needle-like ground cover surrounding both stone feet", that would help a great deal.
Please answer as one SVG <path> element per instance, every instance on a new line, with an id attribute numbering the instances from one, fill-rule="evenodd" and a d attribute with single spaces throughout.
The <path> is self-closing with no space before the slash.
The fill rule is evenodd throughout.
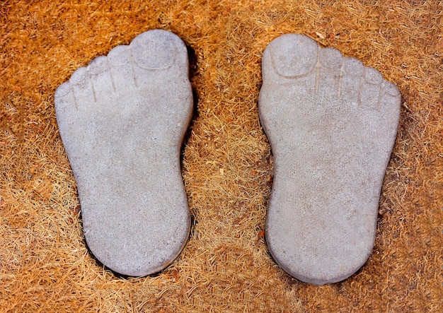
<path id="1" fill-rule="evenodd" d="M 0 1 L 0 312 L 443 312 L 443 3 L 333 2 Z M 54 91 L 154 28 L 190 47 L 192 231 L 165 271 L 122 278 L 86 248 Z M 374 251 L 322 287 L 287 276 L 264 240 L 260 60 L 284 33 L 357 57 L 403 97 Z"/>

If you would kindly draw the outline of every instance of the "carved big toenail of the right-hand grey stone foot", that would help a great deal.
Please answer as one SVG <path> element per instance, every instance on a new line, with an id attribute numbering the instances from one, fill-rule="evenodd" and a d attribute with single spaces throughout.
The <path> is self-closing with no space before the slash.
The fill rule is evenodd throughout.
<path id="1" fill-rule="evenodd" d="M 318 45 L 304 35 L 282 35 L 272 40 L 269 47 L 274 69 L 281 76 L 304 76 L 316 65 Z"/>

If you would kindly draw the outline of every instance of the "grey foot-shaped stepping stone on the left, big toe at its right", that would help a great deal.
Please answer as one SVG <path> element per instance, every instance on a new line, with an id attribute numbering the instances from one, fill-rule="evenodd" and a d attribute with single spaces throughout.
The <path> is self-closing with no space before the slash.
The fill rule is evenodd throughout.
<path id="1" fill-rule="evenodd" d="M 55 93 L 86 242 L 113 271 L 161 271 L 188 239 L 180 146 L 192 115 L 188 52 L 150 30 L 75 71 Z"/>

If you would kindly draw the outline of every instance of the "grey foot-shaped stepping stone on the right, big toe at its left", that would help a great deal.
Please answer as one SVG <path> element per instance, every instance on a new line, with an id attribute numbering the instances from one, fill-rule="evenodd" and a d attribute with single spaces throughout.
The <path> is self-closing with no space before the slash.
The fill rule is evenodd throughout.
<path id="1" fill-rule="evenodd" d="M 291 276 L 338 282 L 374 246 L 400 93 L 379 71 L 304 35 L 273 40 L 262 68 L 260 119 L 275 162 L 268 247 Z"/>

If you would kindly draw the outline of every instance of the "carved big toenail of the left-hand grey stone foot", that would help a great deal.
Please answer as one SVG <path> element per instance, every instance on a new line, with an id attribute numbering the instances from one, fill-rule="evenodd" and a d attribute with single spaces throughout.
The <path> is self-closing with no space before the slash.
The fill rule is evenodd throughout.
<path id="1" fill-rule="evenodd" d="M 166 30 L 138 35 L 130 45 L 135 64 L 142 69 L 167 69 L 176 59 L 176 37 Z"/>

